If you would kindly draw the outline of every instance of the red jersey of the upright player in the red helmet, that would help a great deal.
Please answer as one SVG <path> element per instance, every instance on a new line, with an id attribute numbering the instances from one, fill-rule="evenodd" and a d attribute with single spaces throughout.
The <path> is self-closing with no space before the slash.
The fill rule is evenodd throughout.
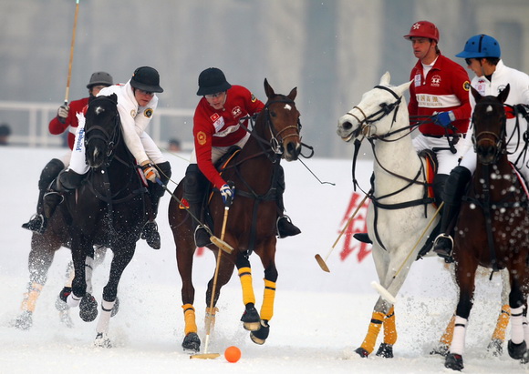
<path id="1" fill-rule="evenodd" d="M 457 128 L 457 133 L 466 134 L 472 108 L 469 76 L 462 66 L 439 55 L 426 78 L 419 60 L 411 70 L 410 79 L 410 116 L 432 116 L 436 112 L 452 111 L 456 120 L 451 125 Z M 442 126 L 432 122 L 419 129 L 425 135 L 446 135 Z"/>

